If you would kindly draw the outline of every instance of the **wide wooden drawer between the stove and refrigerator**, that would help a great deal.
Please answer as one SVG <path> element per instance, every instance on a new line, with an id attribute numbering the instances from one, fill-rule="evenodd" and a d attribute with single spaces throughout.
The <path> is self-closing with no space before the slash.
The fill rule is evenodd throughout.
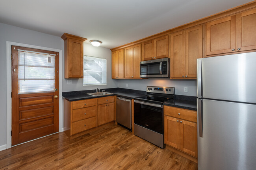
<path id="1" fill-rule="evenodd" d="M 197 122 L 197 112 L 194 110 L 180 109 L 177 107 L 163 106 L 164 114 L 178 119 Z"/>

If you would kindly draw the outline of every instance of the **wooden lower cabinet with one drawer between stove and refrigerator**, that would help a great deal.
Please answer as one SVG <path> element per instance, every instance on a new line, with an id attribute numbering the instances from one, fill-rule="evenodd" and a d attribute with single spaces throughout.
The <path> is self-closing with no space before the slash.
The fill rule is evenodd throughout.
<path id="1" fill-rule="evenodd" d="M 184 120 L 186 117 L 183 113 L 188 114 L 189 112 L 192 116 L 188 119 L 193 119 L 197 115 L 196 111 L 164 106 L 164 143 L 197 157 L 197 123 Z M 177 116 L 174 115 L 175 113 Z M 176 118 L 169 116 L 170 114 Z M 183 116 L 183 119 L 180 119 L 180 116 Z"/>

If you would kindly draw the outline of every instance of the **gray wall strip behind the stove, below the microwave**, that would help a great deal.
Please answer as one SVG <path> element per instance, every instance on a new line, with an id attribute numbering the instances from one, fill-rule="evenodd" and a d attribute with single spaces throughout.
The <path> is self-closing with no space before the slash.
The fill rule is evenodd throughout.
<path id="1" fill-rule="evenodd" d="M 142 80 L 117 80 L 118 87 L 135 90 L 146 90 L 149 86 L 175 87 L 175 94 L 197 96 L 197 80 L 170 80 L 169 78 L 153 78 Z M 126 84 L 128 87 L 126 87 Z M 187 87 L 187 92 L 184 92 Z"/>

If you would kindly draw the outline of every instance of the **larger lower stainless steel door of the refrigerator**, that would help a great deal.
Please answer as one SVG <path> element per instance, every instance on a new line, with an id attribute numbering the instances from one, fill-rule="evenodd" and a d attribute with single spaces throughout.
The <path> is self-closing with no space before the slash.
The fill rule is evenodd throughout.
<path id="1" fill-rule="evenodd" d="M 256 105 L 202 99 L 198 170 L 255 169 L 255 120 Z"/>

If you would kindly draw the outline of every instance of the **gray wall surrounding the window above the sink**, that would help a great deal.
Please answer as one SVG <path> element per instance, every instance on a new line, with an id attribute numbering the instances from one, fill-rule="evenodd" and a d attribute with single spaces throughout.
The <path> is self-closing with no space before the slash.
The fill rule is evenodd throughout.
<path id="1" fill-rule="evenodd" d="M 62 79 L 63 92 L 78 91 L 78 90 L 92 90 L 92 89 L 106 89 L 117 87 L 117 81 L 111 79 L 111 51 L 103 47 L 94 47 L 91 44 L 83 44 L 83 54 L 93 57 L 107 59 L 107 85 L 86 85 L 83 86 L 83 79 L 72 79 L 72 84 L 67 84 L 67 79 Z M 64 60 L 63 60 L 64 61 Z M 62 63 L 63 77 L 64 77 L 64 62 Z M 71 79 L 70 79 L 71 80 Z"/>

